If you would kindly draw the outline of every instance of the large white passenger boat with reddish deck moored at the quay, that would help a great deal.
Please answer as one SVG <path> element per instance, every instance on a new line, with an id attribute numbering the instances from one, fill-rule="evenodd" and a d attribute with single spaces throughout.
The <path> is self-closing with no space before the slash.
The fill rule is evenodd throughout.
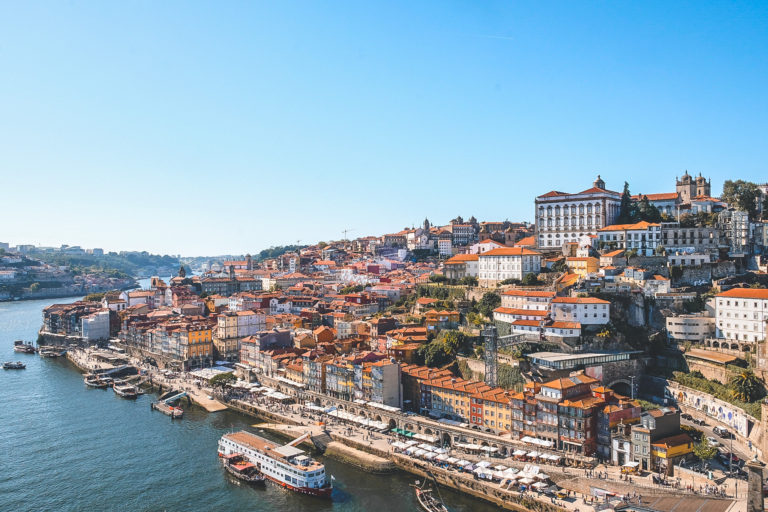
<path id="1" fill-rule="evenodd" d="M 326 478 L 325 466 L 304 454 L 296 445 L 309 437 L 304 434 L 285 445 L 278 445 L 250 432 L 224 434 L 219 440 L 219 457 L 242 454 L 268 480 L 291 491 L 330 498 L 333 486 Z"/>

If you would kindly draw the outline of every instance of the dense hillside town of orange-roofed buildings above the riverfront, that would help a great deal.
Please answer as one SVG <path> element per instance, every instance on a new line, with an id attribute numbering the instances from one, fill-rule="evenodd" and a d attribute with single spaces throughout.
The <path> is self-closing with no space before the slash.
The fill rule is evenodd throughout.
<path id="1" fill-rule="evenodd" d="M 425 219 L 181 266 L 45 308 L 40 341 L 402 414 L 391 429 L 438 444 L 736 482 L 768 457 L 768 184 L 668 185 L 633 195 L 597 176 L 542 191 L 532 223 Z"/>

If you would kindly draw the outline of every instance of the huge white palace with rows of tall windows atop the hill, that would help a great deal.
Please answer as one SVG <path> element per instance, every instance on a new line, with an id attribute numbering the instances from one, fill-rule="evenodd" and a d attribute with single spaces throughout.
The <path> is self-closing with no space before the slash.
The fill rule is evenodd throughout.
<path id="1" fill-rule="evenodd" d="M 592 188 L 576 194 L 553 190 L 536 198 L 536 245 L 559 248 L 611 225 L 619 215 L 621 194 L 605 189 L 597 177 Z"/>

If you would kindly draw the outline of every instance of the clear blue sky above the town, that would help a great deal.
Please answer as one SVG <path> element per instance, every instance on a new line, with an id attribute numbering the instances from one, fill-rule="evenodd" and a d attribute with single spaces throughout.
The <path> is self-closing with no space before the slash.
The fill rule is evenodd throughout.
<path id="1" fill-rule="evenodd" d="M 210 255 L 768 181 L 767 2 L 2 1 L 0 241 Z"/>

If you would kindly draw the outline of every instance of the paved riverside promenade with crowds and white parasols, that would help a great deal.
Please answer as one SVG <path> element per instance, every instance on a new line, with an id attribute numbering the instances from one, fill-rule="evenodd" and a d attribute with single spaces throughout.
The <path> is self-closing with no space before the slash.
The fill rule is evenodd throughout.
<path id="1" fill-rule="evenodd" d="M 83 349 L 72 350 L 68 357 L 83 371 L 104 370 L 111 366 L 98 361 L 87 350 Z M 420 476 L 423 476 L 425 469 L 429 469 L 445 485 L 459 485 L 459 490 L 462 492 L 467 492 L 511 509 L 518 509 L 522 500 L 533 500 L 545 508 L 554 509 L 559 507 L 572 511 L 591 512 L 595 510 L 595 507 L 590 503 L 590 487 L 603 489 L 619 496 L 673 494 L 695 496 L 706 495 L 706 489 L 718 488 L 725 490 L 733 497 L 737 490 L 737 485 L 739 485 L 736 481 L 728 480 L 723 481 L 721 485 L 715 485 L 713 481 L 706 479 L 704 475 L 693 474 L 686 476 L 686 479 L 681 481 L 681 488 L 671 489 L 653 484 L 650 474 L 646 476 L 632 476 L 631 481 L 624 480 L 620 473 L 620 468 L 616 466 L 598 465 L 593 469 L 580 469 L 539 464 L 542 467 L 542 471 L 550 475 L 556 485 L 571 491 L 569 497 L 556 499 L 536 492 L 520 493 L 502 490 L 497 483 L 478 480 L 473 478 L 471 474 L 443 469 L 426 461 L 395 453 L 395 450 L 392 448 L 392 442 L 396 439 L 394 436 L 370 432 L 354 424 L 346 423 L 343 420 L 308 411 L 302 403 L 283 404 L 264 397 L 243 397 L 228 401 L 217 400 L 215 398 L 219 393 L 217 390 L 204 386 L 188 374 L 181 373 L 175 378 L 169 378 L 156 368 L 141 365 L 137 361 L 133 361 L 133 364 L 142 370 L 141 378 L 145 382 L 151 382 L 153 386 L 162 386 L 164 390 L 176 389 L 186 391 L 194 403 L 209 412 L 231 408 L 258 418 L 268 418 L 268 422 L 257 423 L 254 427 L 278 433 L 285 437 L 295 438 L 306 432 L 310 432 L 314 437 L 326 434 L 330 436 L 334 444 L 348 447 L 345 450 L 329 450 L 328 455 L 331 457 L 369 471 L 375 471 L 374 468 L 381 466 L 383 460 L 391 461 L 398 468 Z M 412 416 L 407 416 L 407 418 L 409 421 L 415 421 L 415 418 Z M 429 420 L 429 423 L 433 424 L 435 422 Z M 469 433 L 472 433 L 472 431 L 469 431 Z M 487 456 L 478 456 L 477 454 L 466 452 L 457 447 L 452 448 L 452 452 L 455 456 L 471 462 L 479 462 L 485 459 L 491 461 L 494 465 L 503 464 L 507 467 L 518 469 L 522 469 L 525 465 L 524 462 L 513 458 L 488 458 Z M 746 483 L 740 484 L 741 488 L 738 489 L 740 491 L 738 497 L 742 498 L 743 491 L 746 491 Z M 687 488 L 695 492 L 686 491 Z M 743 503 L 743 500 L 735 503 L 735 508 L 732 508 L 732 511 L 737 512 L 740 510 L 739 506 Z"/>

